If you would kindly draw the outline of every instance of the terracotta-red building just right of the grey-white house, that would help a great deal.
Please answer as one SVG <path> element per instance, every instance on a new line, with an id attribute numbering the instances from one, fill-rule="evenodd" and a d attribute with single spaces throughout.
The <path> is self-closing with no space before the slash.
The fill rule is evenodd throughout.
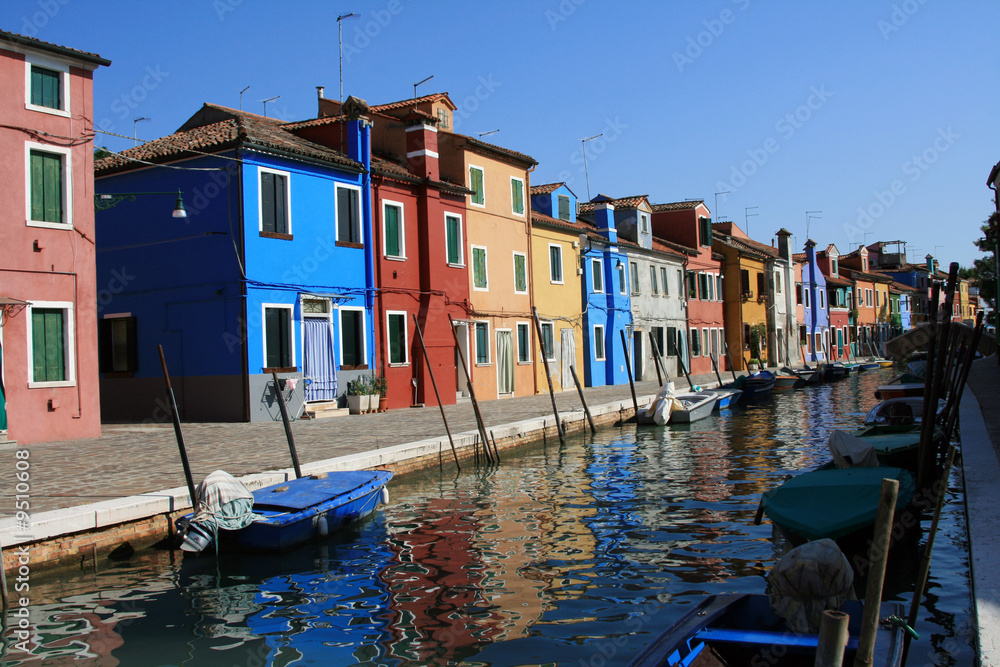
<path id="1" fill-rule="evenodd" d="M 688 284 L 703 286 L 711 281 L 713 289 L 688 290 L 688 328 L 725 330 L 725 307 L 722 290 L 723 256 L 712 252 L 712 214 L 703 201 L 654 204 L 653 236 L 672 244 L 687 255 Z M 739 351 L 742 353 L 742 351 Z M 717 359 L 719 370 L 728 370 L 725 350 Z M 692 375 L 712 373 L 712 359 L 707 355 L 691 359 Z"/>

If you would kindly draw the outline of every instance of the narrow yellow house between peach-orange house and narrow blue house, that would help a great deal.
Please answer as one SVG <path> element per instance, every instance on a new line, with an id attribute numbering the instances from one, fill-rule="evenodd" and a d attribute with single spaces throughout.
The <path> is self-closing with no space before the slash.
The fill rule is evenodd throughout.
<path id="1" fill-rule="evenodd" d="M 531 188 L 531 270 L 549 377 L 555 391 L 573 389 L 572 366 L 583 384 L 583 287 L 580 234 L 592 228 L 576 219 L 576 195 L 565 183 Z M 535 347 L 539 350 L 539 346 Z M 545 363 L 535 360 L 539 392 L 548 391 Z"/>

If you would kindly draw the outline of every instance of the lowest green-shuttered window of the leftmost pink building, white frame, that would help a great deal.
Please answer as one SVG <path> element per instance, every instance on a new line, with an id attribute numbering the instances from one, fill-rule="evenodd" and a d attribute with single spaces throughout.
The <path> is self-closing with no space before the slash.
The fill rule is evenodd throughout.
<path id="1" fill-rule="evenodd" d="M 35 301 L 28 309 L 32 362 L 28 387 L 71 386 L 75 382 L 73 304 Z"/>

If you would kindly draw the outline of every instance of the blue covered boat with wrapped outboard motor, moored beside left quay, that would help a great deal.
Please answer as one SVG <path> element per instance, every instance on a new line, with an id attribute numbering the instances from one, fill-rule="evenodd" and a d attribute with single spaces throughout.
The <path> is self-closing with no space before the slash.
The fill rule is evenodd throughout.
<path id="1" fill-rule="evenodd" d="M 212 544 L 213 534 L 217 533 L 219 548 L 224 551 L 281 553 L 370 515 L 388 501 L 385 485 L 390 479 L 392 473 L 388 470 L 353 470 L 273 484 L 252 493 L 252 521 L 235 530 L 227 529 L 227 517 L 223 516 L 232 503 L 206 508 L 203 498 L 207 494 L 199 492 L 199 518 L 189 514 L 177 522 L 184 538 L 181 548 L 200 552 Z M 240 509 L 229 510 L 229 514 L 233 513 L 238 518 L 250 518 L 245 510 L 242 516 Z M 216 517 L 220 520 L 216 521 Z"/>

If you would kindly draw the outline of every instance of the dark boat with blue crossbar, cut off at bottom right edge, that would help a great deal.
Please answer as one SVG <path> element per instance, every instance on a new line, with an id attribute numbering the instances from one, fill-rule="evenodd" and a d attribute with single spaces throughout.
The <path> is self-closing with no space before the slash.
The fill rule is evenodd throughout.
<path id="1" fill-rule="evenodd" d="M 849 600 L 840 611 L 850 617 L 844 656 L 844 664 L 848 665 L 853 664 L 857 653 L 864 605 Z M 884 602 L 879 608 L 879 618 L 903 615 L 903 605 L 899 602 Z M 771 610 L 767 595 L 710 595 L 630 664 L 632 667 L 812 665 L 818 643 L 817 634 L 792 631 Z M 871 664 L 877 667 L 902 664 L 903 644 L 903 630 L 898 624 L 880 623 Z"/>

